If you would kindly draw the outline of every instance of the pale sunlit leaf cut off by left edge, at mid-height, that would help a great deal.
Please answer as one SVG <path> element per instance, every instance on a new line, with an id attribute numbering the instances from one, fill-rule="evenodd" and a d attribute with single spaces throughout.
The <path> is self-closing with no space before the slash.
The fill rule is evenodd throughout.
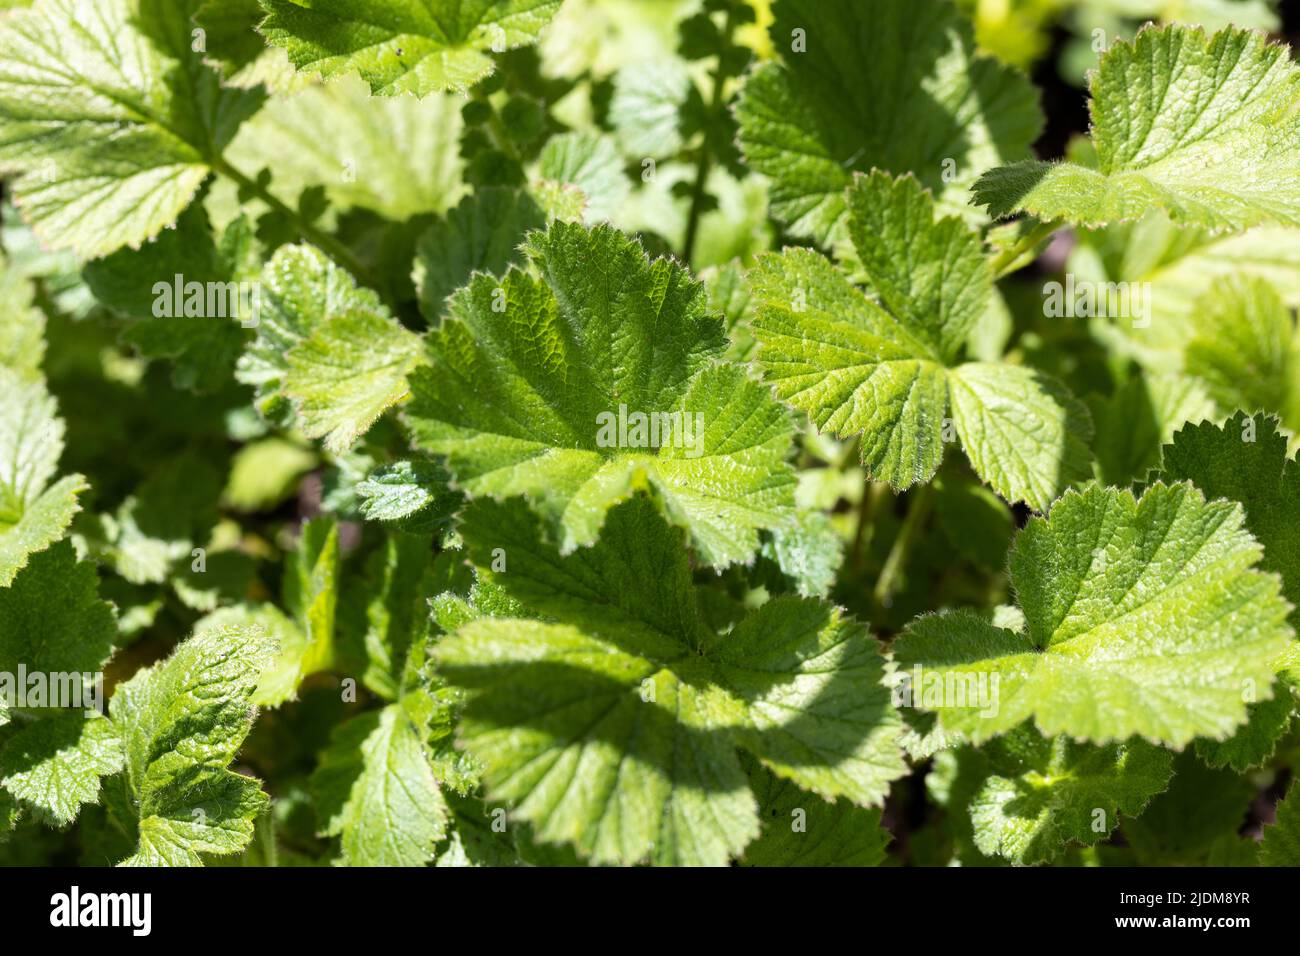
<path id="1" fill-rule="evenodd" d="M 43 381 L 0 368 L 0 588 L 29 558 L 62 537 L 81 511 L 86 479 L 49 484 L 64 450 L 64 423 Z"/>

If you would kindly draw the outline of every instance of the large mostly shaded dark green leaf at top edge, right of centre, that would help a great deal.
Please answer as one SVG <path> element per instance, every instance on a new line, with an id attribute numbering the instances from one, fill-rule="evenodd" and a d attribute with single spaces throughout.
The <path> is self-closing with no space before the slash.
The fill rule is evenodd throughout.
<path id="1" fill-rule="evenodd" d="M 976 177 L 1028 157 L 1041 126 L 1034 88 L 976 56 L 948 0 L 777 0 L 772 13 L 781 60 L 749 75 L 736 117 L 745 157 L 772 181 L 772 212 L 793 234 L 841 241 L 844 190 L 872 168 L 910 172 L 945 212 L 978 219 Z"/>

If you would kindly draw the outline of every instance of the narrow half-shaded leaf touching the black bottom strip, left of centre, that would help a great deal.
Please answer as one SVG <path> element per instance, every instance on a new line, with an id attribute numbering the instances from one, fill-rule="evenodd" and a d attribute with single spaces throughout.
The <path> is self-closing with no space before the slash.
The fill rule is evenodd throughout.
<path id="1" fill-rule="evenodd" d="M 334 731 L 312 775 L 326 836 L 344 866 L 422 866 L 447 831 L 447 804 L 430 765 L 424 692 L 352 718 Z"/>

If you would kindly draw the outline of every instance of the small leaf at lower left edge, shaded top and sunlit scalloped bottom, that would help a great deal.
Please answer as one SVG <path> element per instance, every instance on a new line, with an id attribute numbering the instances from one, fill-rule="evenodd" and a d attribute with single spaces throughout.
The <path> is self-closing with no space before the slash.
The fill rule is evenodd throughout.
<path id="1" fill-rule="evenodd" d="M 99 778 L 122 769 L 113 722 L 95 711 L 64 710 L 29 723 L 0 749 L 0 786 L 68 826 L 83 804 L 99 803 Z"/>

